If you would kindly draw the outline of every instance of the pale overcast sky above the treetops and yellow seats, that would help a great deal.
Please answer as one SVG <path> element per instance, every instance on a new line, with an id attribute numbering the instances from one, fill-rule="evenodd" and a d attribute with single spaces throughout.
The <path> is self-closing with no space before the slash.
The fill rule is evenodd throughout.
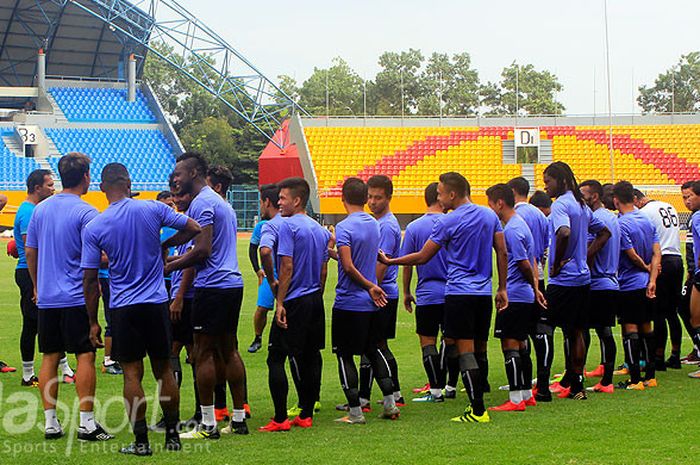
<path id="1" fill-rule="evenodd" d="M 482 82 L 513 60 L 532 63 L 559 77 L 567 113 L 607 111 L 603 0 L 181 3 L 275 80 L 301 83 L 336 56 L 372 78 L 387 50 L 466 51 Z M 700 1 L 608 0 L 608 18 L 613 111 L 638 112 L 637 87 L 700 50 Z"/>

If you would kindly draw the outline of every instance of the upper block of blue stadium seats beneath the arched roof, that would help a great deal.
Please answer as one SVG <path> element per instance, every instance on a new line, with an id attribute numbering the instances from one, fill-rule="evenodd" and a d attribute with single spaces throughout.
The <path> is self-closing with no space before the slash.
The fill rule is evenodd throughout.
<path id="1" fill-rule="evenodd" d="M 141 89 L 136 100 L 126 100 L 126 89 L 93 87 L 51 87 L 61 111 L 72 122 L 156 123 Z"/>

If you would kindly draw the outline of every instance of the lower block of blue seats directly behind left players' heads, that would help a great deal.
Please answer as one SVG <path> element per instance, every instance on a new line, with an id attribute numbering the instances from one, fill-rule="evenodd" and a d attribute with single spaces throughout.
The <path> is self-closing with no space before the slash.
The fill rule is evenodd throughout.
<path id="1" fill-rule="evenodd" d="M 83 152 L 92 160 L 91 189 L 97 189 L 107 163 L 126 165 L 134 190 L 158 190 L 167 186 L 175 167 L 173 147 L 157 129 L 46 129 L 59 152 Z M 58 157 L 49 163 L 58 172 Z"/>

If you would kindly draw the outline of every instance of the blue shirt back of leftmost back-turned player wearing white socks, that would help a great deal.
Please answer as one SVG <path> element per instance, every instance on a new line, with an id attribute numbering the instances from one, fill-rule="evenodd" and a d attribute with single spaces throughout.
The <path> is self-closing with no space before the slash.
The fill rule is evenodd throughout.
<path id="1" fill-rule="evenodd" d="M 97 210 L 78 195 L 60 193 L 34 209 L 25 247 L 39 249 L 39 308 L 83 305 L 81 232 Z"/>

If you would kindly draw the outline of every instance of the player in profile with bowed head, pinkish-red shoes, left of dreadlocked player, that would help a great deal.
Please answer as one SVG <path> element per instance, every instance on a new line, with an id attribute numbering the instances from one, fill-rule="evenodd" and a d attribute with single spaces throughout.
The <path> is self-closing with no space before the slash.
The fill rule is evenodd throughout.
<path id="1" fill-rule="evenodd" d="M 486 190 L 489 208 L 503 222 L 503 235 L 508 251 L 508 306 L 496 314 L 494 336 L 501 340 L 509 399 L 489 410 L 524 411 L 537 405 L 532 396 L 532 360 L 527 338 L 535 302 L 546 308 L 539 289 L 535 240 L 525 220 L 515 212 L 515 196 L 507 184 L 496 184 Z"/>

